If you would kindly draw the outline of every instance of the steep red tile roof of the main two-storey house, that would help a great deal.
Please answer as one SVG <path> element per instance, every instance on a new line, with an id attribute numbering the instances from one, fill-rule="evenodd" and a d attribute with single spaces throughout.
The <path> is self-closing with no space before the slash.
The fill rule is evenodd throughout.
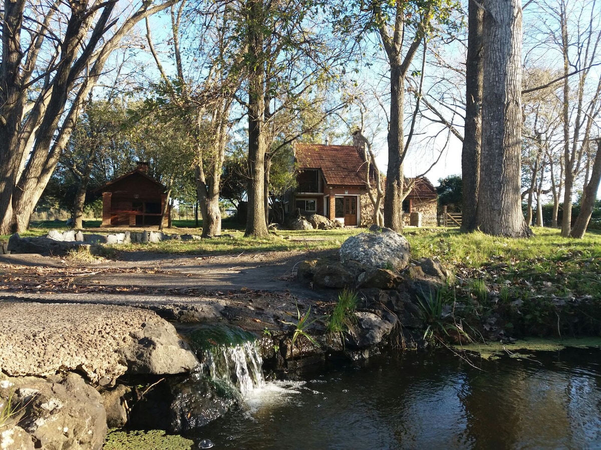
<path id="1" fill-rule="evenodd" d="M 353 145 L 295 143 L 299 169 L 322 169 L 329 185 L 365 186 L 365 162 Z"/>

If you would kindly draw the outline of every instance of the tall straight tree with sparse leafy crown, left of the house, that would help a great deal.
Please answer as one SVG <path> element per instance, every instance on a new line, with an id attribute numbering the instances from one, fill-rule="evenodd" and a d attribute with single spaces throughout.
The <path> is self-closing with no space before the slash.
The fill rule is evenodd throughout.
<path id="1" fill-rule="evenodd" d="M 343 51 L 328 46 L 324 12 L 307 0 L 231 2 L 240 17 L 240 71 L 245 77 L 243 101 L 248 116 L 248 215 L 246 236 L 266 236 L 266 155 L 272 121 L 299 98 L 332 80 L 343 63 Z M 338 46 L 340 47 L 340 46 Z"/>

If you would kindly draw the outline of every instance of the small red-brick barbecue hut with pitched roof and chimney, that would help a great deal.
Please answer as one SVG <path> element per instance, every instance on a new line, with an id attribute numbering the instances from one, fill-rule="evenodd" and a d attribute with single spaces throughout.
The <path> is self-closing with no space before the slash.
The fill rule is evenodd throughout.
<path id="1" fill-rule="evenodd" d="M 147 174 L 148 163 L 139 162 L 135 170 L 127 172 L 99 187 L 102 192 L 101 227 L 158 226 L 167 196 L 165 187 Z M 167 226 L 169 214 L 163 218 Z"/>

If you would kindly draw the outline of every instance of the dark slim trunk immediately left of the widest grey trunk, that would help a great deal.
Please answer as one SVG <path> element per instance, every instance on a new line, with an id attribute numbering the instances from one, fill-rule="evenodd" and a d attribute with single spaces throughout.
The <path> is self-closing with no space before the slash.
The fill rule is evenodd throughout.
<path id="1" fill-rule="evenodd" d="M 481 2 L 483 3 L 483 2 Z M 465 132 L 461 154 L 462 230 L 477 226 L 478 188 L 480 187 L 480 152 L 482 145 L 482 89 L 484 11 L 473 1 L 468 5 L 468 59 L 466 64 Z"/>

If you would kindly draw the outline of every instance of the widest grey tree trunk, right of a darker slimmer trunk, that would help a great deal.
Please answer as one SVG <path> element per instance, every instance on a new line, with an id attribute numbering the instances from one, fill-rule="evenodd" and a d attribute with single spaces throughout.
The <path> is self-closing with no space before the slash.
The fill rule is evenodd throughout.
<path id="1" fill-rule="evenodd" d="M 478 224 L 494 236 L 531 235 L 521 208 L 522 9 L 517 0 L 487 2 Z"/>

